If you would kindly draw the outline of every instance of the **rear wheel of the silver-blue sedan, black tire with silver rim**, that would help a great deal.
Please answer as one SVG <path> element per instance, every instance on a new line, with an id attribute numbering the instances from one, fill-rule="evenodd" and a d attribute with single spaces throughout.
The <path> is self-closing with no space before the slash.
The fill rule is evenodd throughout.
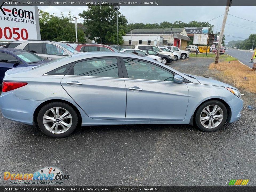
<path id="1" fill-rule="evenodd" d="M 56 115 L 54 115 L 52 110 L 54 110 Z M 44 123 L 44 119 L 49 120 Z M 53 138 L 62 138 L 67 137 L 75 130 L 78 123 L 78 117 L 77 113 L 70 105 L 63 102 L 53 102 L 41 108 L 37 116 L 37 122 L 41 131 L 47 136 Z M 65 127 L 65 129 L 63 127 Z M 61 133 L 62 131 L 63 133 Z"/>

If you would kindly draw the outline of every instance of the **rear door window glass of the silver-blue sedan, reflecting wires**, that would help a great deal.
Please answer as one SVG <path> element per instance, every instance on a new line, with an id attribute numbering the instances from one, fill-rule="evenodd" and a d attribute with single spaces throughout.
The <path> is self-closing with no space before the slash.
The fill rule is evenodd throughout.
<path id="1" fill-rule="evenodd" d="M 77 62 L 72 71 L 78 76 L 118 77 L 117 59 L 100 58 Z"/>

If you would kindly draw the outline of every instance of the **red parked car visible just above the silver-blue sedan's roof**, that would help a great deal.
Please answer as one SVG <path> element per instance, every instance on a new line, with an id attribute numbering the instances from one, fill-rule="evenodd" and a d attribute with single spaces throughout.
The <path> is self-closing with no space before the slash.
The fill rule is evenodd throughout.
<path id="1" fill-rule="evenodd" d="M 79 52 L 92 52 L 92 51 L 117 51 L 114 47 L 96 43 L 86 43 L 77 45 L 75 50 Z"/>

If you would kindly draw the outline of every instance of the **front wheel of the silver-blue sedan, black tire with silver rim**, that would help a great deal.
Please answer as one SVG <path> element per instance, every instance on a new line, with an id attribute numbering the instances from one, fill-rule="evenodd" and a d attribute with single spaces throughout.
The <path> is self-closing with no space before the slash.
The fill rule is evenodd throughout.
<path id="1" fill-rule="evenodd" d="M 216 107 L 214 113 L 214 106 Z M 209 111 L 207 111 L 208 109 Z M 217 108 L 219 107 L 219 108 Z M 212 111 L 211 111 L 212 110 Z M 205 112 L 209 112 L 208 114 Z M 216 118 L 218 116 L 218 118 Z M 202 118 L 202 119 L 201 119 Z M 218 119 L 218 120 L 216 120 Z M 227 120 L 227 109 L 225 105 L 216 100 L 203 103 L 195 114 L 195 123 L 199 129 L 205 132 L 214 132 L 220 129 Z M 202 121 L 202 122 L 201 122 Z M 207 125 L 208 124 L 208 125 Z M 211 126 L 211 125 L 214 126 Z M 207 126 L 211 126 L 207 128 Z"/>

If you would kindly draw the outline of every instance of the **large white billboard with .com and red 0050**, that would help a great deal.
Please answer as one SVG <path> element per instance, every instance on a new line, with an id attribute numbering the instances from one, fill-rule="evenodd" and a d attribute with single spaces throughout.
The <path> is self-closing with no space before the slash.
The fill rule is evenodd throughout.
<path id="1" fill-rule="evenodd" d="M 1 6 L 0 41 L 41 39 L 36 6 Z"/>

